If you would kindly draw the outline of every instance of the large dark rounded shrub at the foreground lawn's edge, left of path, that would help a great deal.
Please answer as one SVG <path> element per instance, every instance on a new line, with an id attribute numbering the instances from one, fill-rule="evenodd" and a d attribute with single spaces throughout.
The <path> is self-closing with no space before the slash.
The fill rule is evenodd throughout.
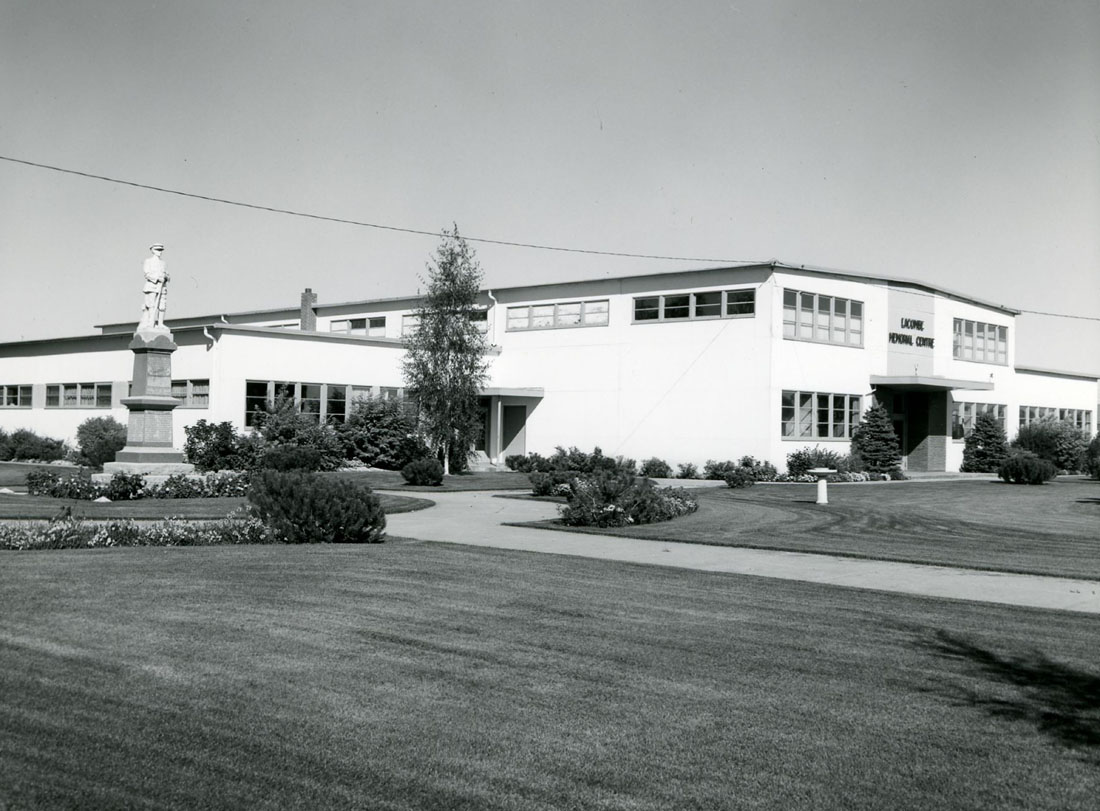
<path id="1" fill-rule="evenodd" d="M 344 479 L 260 471 L 249 503 L 252 514 L 287 544 L 377 544 L 385 534 L 378 496 Z"/>

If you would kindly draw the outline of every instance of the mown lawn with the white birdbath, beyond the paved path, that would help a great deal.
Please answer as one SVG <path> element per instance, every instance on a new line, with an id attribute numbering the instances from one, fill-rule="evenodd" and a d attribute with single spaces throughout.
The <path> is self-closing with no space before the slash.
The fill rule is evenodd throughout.
<path id="1" fill-rule="evenodd" d="M 663 524 L 570 531 L 688 544 L 827 552 L 992 571 L 1100 580 L 1100 482 L 991 481 L 758 484 L 692 491 L 697 513 Z"/>

